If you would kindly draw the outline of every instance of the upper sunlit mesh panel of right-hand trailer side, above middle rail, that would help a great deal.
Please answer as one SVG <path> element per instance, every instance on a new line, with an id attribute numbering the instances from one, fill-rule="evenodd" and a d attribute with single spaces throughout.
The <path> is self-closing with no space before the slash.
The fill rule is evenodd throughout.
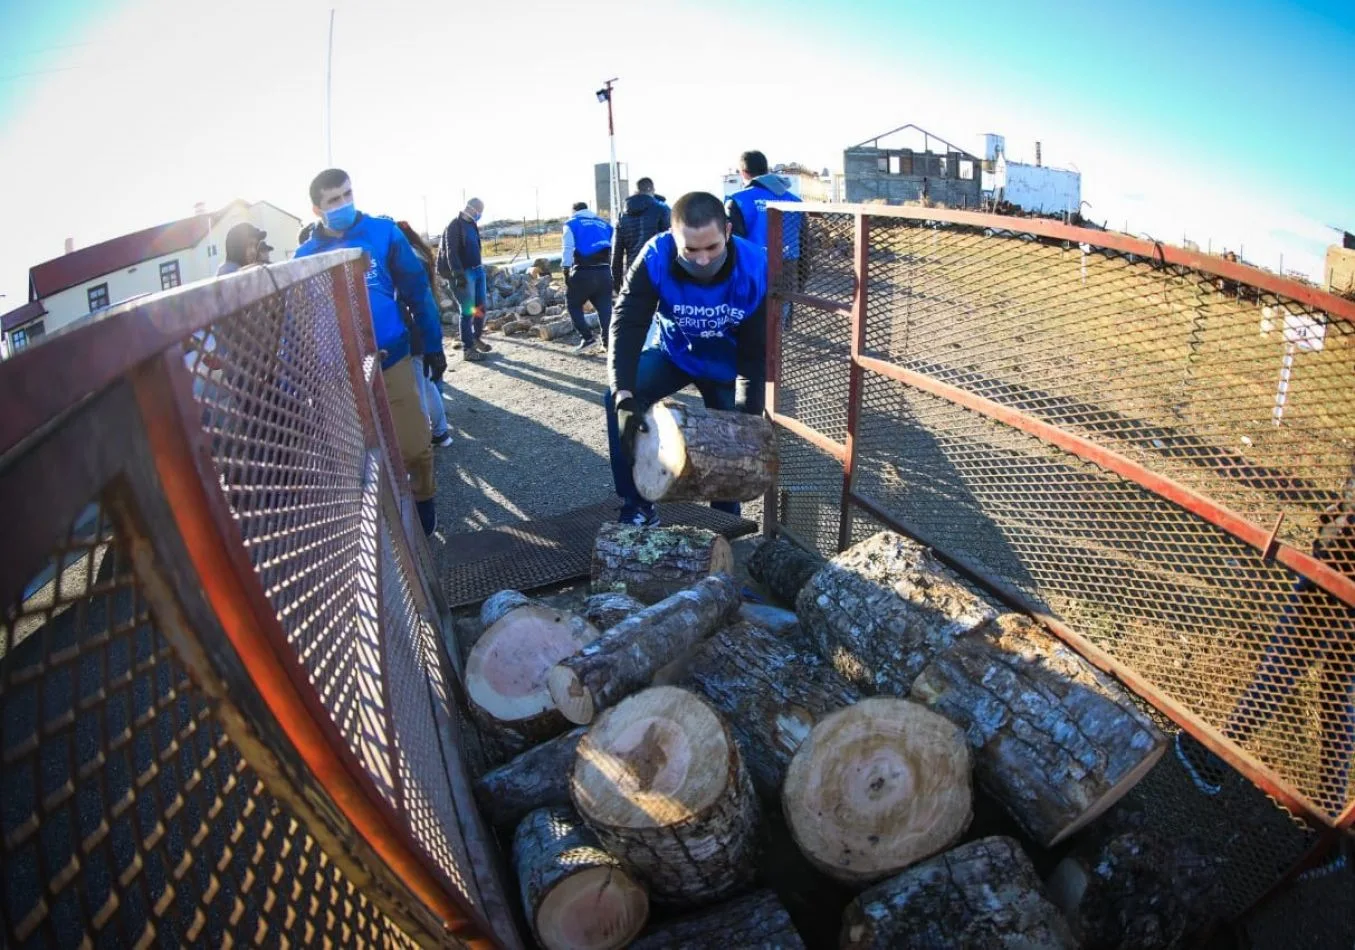
<path id="1" fill-rule="evenodd" d="M 867 351 L 1092 439 L 1306 549 L 1355 459 L 1355 328 L 1154 259 L 871 218 Z M 1351 561 L 1355 565 L 1355 560 Z"/>

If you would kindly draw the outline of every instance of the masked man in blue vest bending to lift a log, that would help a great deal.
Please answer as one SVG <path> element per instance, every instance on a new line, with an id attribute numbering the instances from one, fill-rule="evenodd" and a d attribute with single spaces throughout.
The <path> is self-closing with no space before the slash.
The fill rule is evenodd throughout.
<path id="1" fill-rule="evenodd" d="M 631 476 L 645 411 L 684 386 L 706 407 L 733 409 L 734 378 L 755 384 L 738 408 L 760 413 L 767 348 L 767 255 L 730 234 L 720 199 L 703 191 L 672 207 L 672 229 L 645 245 L 617 300 L 607 354 L 607 447 L 621 522 L 653 526 L 659 514 Z M 734 501 L 713 508 L 738 514 Z"/>

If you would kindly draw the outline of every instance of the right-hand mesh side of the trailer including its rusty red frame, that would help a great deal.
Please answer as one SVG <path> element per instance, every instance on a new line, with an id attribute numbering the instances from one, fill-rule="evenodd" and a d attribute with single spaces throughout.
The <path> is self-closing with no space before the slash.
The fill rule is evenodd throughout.
<path id="1" fill-rule="evenodd" d="M 1351 819 L 1355 306 L 1050 221 L 794 217 L 770 516 L 825 554 L 912 534 L 1184 725 L 1218 833 L 1274 831 L 1240 912 L 1313 844 L 1294 816 Z"/>

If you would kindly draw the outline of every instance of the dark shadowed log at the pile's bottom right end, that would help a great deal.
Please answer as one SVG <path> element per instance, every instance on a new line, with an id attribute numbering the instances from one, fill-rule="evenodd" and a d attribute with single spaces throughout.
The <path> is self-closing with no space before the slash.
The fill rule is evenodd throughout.
<path id="1" fill-rule="evenodd" d="M 1169 838 L 1117 809 L 1080 836 L 1046 881 L 1084 950 L 1169 950 L 1210 926 L 1222 897 L 1217 848 Z"/>

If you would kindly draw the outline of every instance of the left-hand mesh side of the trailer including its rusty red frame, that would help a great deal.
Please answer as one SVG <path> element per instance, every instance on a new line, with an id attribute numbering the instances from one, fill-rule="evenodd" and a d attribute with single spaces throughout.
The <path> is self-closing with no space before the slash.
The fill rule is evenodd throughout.
<path id="1" fill-rule="evenodd" d="M 519 946 L 356 255 L 0 371 L 64 384 L 0 430 L 45 491 L 0 526 L 0 943 Z"/>

